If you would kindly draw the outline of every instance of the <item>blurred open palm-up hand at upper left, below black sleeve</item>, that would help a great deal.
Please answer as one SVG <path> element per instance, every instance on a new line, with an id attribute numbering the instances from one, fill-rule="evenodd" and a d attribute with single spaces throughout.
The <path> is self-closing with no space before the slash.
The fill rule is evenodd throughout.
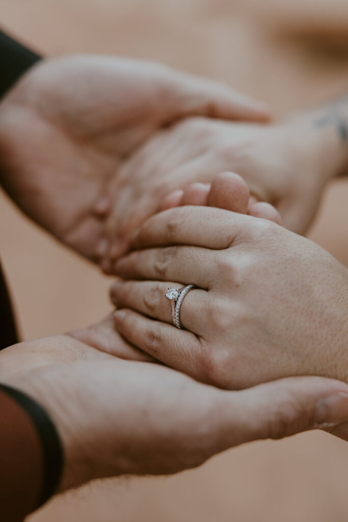
<path id="1" fill-rule="evenodd" d="M 161 65 L 103 56 L 44 61 L 0 104 L 0 181 L 29 217 L 97 260 L 105 217 L 135 182 L 121 175 L 126 158 L 192 114 L 268 117 L 227 87 Z M 130 215 L 118 213 L 116 230 Z"/>

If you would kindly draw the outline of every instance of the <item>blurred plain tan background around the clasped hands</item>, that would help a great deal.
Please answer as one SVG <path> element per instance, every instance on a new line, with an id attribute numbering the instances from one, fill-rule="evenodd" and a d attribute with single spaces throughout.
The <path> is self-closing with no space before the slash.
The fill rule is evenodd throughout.
<path id="1" fill-rule="evenodd" d="M 0 22 L 50 55 L 152 58 L 230 82 L 277 116 L 348 91 L 347 0 L 0 0 Z M 3 194 L 0 223 L 23 337 L 61 333 L 109 310 L 110 280 Z M 341 180 L 329 187 L 310 237 L 348 266 L 347 231 Z M 347 492 L 346 443 L 307 433 L 249 444 L 172 478 L 93 483 L 30 522 L 343 522 Z"/>

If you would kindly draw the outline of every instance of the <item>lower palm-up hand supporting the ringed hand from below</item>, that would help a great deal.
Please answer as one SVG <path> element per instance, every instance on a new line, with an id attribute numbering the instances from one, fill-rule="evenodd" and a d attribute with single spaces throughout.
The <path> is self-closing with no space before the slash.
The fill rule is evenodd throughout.
<path id="1" fill-rule="evenodd" d="M 175 473 L 238 444 L 348 418 L 348 386 L 331 379 L 224 392 L 68 336 L 6 348 L 0 382 L 31 396 L 54 421 L 65 455 L 59 491 L 121 474 Z"/>

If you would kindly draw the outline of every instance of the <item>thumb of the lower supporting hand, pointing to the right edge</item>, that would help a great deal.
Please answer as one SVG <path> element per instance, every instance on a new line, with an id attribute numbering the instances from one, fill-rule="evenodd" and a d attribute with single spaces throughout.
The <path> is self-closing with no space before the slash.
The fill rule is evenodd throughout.
<path id="1" fill-rule="evenodd" d="M 215 432 L 220 451 L 348 420 L 348 385 L 333 379 L 290 377 L 221 394 Z"/>

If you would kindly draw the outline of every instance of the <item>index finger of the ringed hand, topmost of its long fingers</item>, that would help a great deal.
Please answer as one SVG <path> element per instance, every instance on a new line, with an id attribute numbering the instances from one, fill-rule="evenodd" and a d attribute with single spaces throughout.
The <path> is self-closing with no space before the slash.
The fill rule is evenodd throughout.
<path id="1" fill-rule="evenodd" d="M 220 208 L 184 206 L 148 218 L 135 233 L 133 246 L 187 244 L 228 248 L 239 237 L 257 233 L 261 220 Z"/>

